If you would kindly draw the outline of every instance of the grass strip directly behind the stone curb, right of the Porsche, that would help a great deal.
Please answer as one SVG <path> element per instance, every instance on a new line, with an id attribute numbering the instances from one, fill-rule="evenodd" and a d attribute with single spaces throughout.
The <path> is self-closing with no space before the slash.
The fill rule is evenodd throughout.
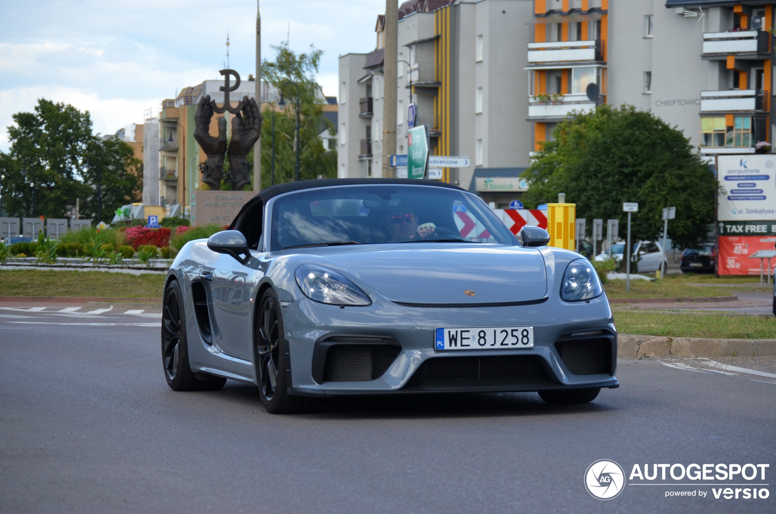
<path id="1" fill-rule="evenodd" d="M 715 339 L 776 339 L 776 318 L 719 314 L 661 314 L 615 311 L 622 334 Z"/>

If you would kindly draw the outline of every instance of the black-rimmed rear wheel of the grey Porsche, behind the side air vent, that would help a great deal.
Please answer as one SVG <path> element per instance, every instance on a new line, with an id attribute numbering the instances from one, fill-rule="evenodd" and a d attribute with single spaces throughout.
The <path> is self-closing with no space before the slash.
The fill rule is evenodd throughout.
<path id="1" fill-rule="evenodd" d="M 217 391 L 227 379 L 198 378 L 189 365 L 183 295 L 177 280 L 165 290 L 161 314 L 161 363 L 173 391 Z"/>

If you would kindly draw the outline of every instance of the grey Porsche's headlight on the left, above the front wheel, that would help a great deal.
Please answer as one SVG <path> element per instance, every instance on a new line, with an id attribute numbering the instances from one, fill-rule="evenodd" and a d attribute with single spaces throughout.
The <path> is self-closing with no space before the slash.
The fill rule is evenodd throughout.
<path id="1" fill-rule="evenodd" d="M 305 265 L 296 268 L 296 283 L 304 296 L 334 305 L 370 305 L 372 300 L 355 283 L 322 266 Z"/>

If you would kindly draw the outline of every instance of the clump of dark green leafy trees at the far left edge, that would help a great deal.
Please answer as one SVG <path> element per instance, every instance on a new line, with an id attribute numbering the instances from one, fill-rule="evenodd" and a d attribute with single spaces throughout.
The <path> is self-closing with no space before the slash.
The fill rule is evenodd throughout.
<path id="1" fill-rule="evenodd" d="M 116 137 L 93 135 L 88 112 L 39 99 L 33 113 L 12 117 L 11 149 L 0 152 L 3 207 L 12 216 L 64 217 L 80 199 L 81 214 L 93 217 L 98 182 L 103 221 L 140 198 L 142 162 Z"/>

